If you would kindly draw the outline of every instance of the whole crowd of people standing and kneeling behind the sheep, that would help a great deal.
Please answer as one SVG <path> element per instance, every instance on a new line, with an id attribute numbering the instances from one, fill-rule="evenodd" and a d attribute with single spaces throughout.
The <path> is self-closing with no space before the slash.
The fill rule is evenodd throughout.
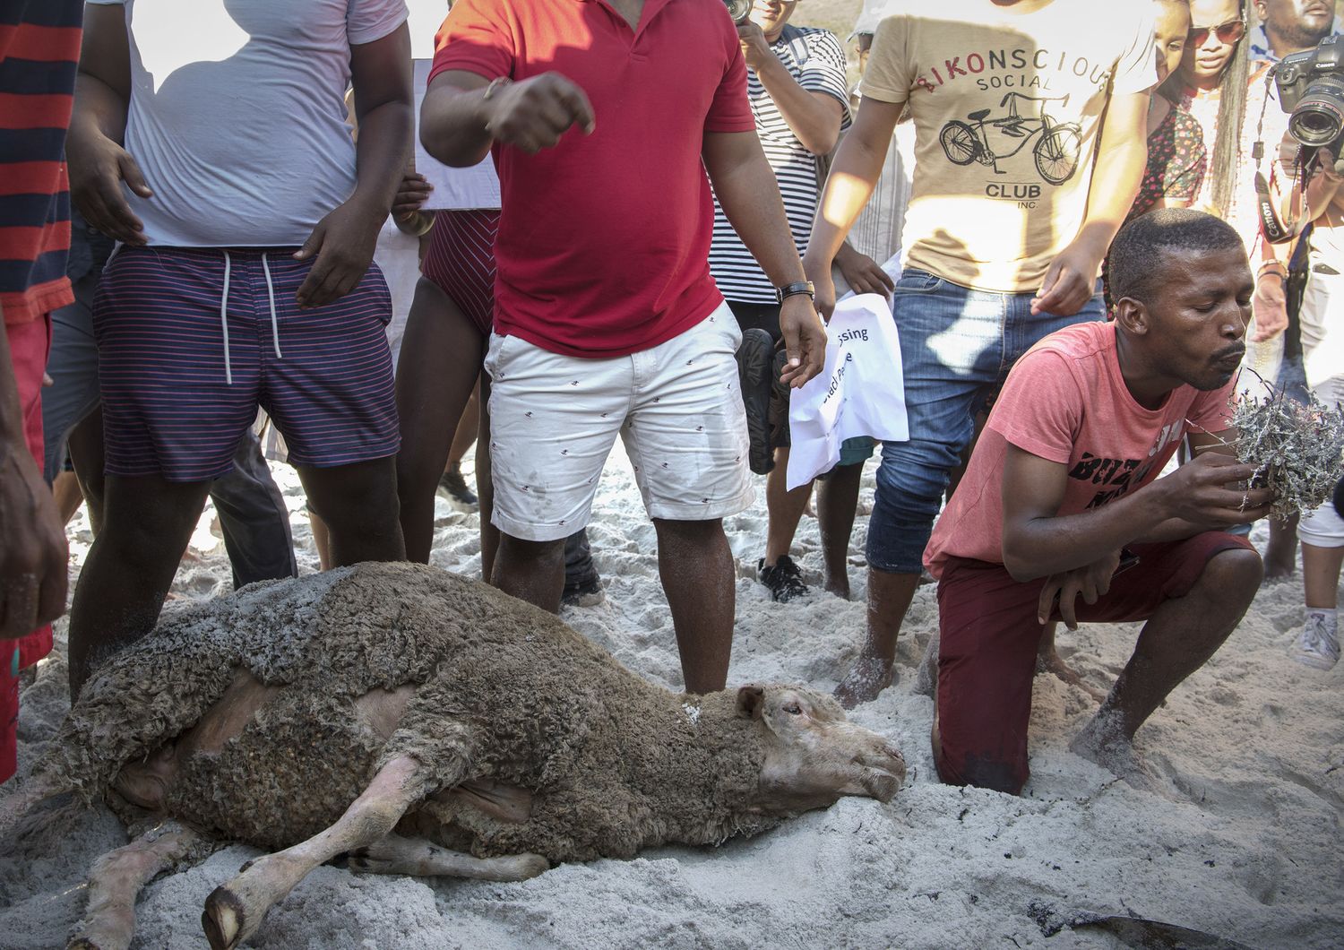
<path id="1" fill-rule="evenodd" d="M 797 5 L 456 0 L 417 122 L 405 0 L 208 0 L 192 44 L 155 0 L 0 4 L 0 781 L 81 501 L 73 697 L 155 626 L 207 496 L 235 587 L 297 574 L 267 458 L 323 568 L 427 562 L 446 488 L 478 494 L 482 578 L 558 611 L 601 597 L 585 528 L 620 437 L 685 689 L 724 688 L 753 472 L 758 579 L 809 594 L 789 402 L 848 292 L 890 302 L 910 438 L 816 480 L 848 597 L 880 453 L 844 704 L 890 685 L 937 582 L 938 773 L 1017 793 L 1038 662 L 1074 676 L 1058 622 L 1144 621 L 1074 743 L 1136 775 L 1136 731 L 1297 535 L 1294 654 L 1331 668 L 1344 520 L 1273 523 L 1262 563 L 1273 499 L 1228 442 L 1243 365 L 1344 400 L 1344 176 L 1294 177 L 1270 77 L 1333 5 L 868 0 L 856 90 Z"/>

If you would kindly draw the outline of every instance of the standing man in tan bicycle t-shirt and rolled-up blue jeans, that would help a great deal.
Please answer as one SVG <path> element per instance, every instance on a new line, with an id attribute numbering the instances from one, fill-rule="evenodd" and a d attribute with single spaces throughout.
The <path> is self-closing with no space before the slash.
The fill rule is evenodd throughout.
<path id="1" fill-rule="evenodd" d="M 804 258 L 829 316 L 831 259 L 909 107 L 914 191 L 891 306 L 910 441 L 883 446 L 868 637 L 837 689 L 848 705 L 891 681 L 921 556 L 976 411 L 1036 340 L 1103 314 L 1097 273 L 1138 191 L 1157 81 L 1146 0 L 892 0 L 886 12 Z"/>

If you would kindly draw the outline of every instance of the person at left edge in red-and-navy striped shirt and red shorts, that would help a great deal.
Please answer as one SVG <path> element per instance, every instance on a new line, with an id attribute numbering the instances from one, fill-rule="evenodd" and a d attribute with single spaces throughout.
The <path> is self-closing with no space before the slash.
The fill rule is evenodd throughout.
<path id="1" fill-rule="evenodd" d="M 51 650 L 66 606 L 66 536 L 42 480 L 47 314 L 66 279 L 70 125 L 79 0 L 0 5 L 0 782 L 15 771 L 19 671 Z"/>

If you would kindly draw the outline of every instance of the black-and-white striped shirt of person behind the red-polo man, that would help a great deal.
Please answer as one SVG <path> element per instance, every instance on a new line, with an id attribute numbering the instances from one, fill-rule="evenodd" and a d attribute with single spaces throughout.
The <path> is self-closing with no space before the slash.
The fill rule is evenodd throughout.
<path id="1" fill-rule="evenodd" d="M 770 48 L 800 86 L 809 93 L 827 93 L 840 102 L 844 109 L 841 128 L 847 128 L 849 87 L 845 81 L 844 50 L 840 48 L 836 35 L 829 30 L 788 26 Z M 765 157 L 780 183 L 793 243 L 801 255 L 808 249 L 812 216 L 817 210 L 817 157 L 793 134 L 755 70 L 747 70 L 747 98 L 751 101 Z M 718 198 L 714 202 L 710 271 L 728 300 L 750 304 L 775 301 L 774 285 L 732 231 L 728 219 L 723 216 Z"/>

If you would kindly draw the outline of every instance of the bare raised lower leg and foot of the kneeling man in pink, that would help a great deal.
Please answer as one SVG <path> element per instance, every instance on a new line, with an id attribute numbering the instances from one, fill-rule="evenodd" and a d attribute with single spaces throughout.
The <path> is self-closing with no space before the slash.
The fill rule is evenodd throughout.
<path id="1" fill-rule="evenodd" d="M 1070 748 L 1122 778 L 1136 778 L 1134 732 L 1231 636 L 1262 575 L 1254 551 L 1234 548 L 1214 555 L 1185 597 L 1164 602 L 1144 623 L 1134 654 Z"/>

